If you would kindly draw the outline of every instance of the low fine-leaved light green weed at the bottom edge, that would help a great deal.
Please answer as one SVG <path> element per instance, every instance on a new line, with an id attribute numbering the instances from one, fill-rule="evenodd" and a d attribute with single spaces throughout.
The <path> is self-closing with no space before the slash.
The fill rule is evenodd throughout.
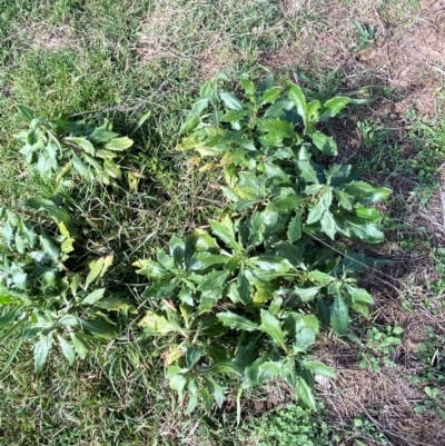
<path id="1" fill-rule="evenodd" d="M 317 414 L 314 420 L 310 410 L 296 404 L 279 407 L 251 418 L 243 426 L 240 444 L 245 446 L 328 446 L 329 429 Z"/>

